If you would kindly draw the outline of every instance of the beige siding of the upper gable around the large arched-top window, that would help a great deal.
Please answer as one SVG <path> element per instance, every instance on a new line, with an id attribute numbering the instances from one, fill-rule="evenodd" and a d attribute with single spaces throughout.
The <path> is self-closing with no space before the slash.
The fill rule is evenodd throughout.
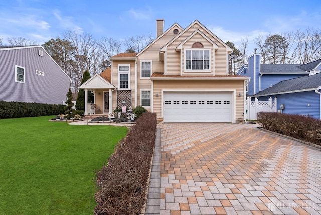
<path id="1" fill-rule="evenodd" d="M 167 75 L 180 75 L 180 65 L 181 65 L 180 63 L 182 62 L 180 61 L 180 52 L 176 51 L 176 47 L 180 43 L 182 43 L 187 37 L 193 34 L 197 29 L 202 31 L 207 37 L 209 37 L 214 43 L 216 43 L 220 47 L 215 52 L 215 63 L 214 63 L 215 75 L 226 75 L 226 70 L 227 70 L 226 47 L 223 44 L 221 44 L 221 42 L 219 42 L 214 37 L 212 37 L 212 35 L 207 33 L 197 23 L 191 26 L 186 32 L 184 32 L 184 34 L 182 34 L 179 38 L 177 38 L 167 47 L 167 52 L 166 52 L 166 55 L 167 55 L 166 56 L 167 58 L 166 74 Z M 204 39 L 202 41 L 204 41 Z M 197 42 L 197 41 L 194 41 L 194 42 Z M 183 65 L 184 65 L 184 62 L 183 62 Z"/>

